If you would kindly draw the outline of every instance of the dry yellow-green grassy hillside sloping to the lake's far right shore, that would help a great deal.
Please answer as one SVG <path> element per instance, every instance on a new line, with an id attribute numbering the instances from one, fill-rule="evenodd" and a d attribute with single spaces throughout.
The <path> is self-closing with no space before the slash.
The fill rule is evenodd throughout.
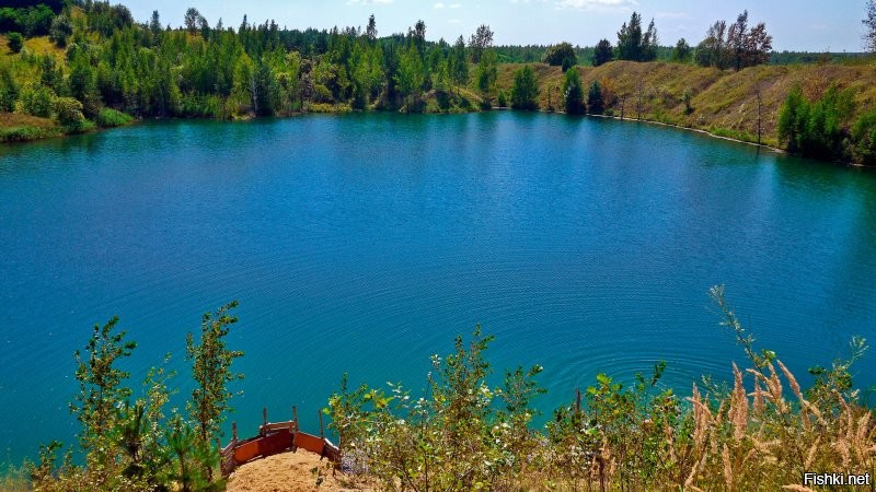
<path id="1" fill-rule="evenodd" d="M 514 72 L 522 65 L 499 66 L 498 85 L 510 92 Z M 561 107 L 563 72 L 560 67 L 531 65 L 539 80 L 539 105 Z M 762 142 L 780 147 L 777 141 L 779 109 L 791 89 L 799 83 L 808 98 L 820 97 L 831 85 L 852 87 L 855 92 L 855 115 L 876 108 L 876 62 L 869 65 L 759 66 L 739 72 L 722 71 L 692 65 L 670 62 L 637 63 L 613 61 L 601 67 L 577 67 L 585 87 L 597 80 L 608 90 L 610 112 L 637 117 L 639 86 L 642 118 L 706 130 L 745 141 L 757 141 L 758 91 L 761 94 Z M 683 96 L 690 93 L 692 112 L 688 114 Z M 608 101 L 607 101 L 608 103 Z M 853 118 L 853 119 L 854 119 Z"/>

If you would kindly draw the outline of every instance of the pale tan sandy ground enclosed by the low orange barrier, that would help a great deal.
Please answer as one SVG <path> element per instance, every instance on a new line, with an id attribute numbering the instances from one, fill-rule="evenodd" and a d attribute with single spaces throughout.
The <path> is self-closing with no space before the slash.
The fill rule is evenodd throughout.
<path id="1" fill-rule="evenodd" d="M 322 479 L 319 487 L 316 481 Z M 229 492 L 371 492 L 339 471 L 332 475 L 326 460 L 299 450 L 258 459 L 240 467 L 228 481 Z"/>

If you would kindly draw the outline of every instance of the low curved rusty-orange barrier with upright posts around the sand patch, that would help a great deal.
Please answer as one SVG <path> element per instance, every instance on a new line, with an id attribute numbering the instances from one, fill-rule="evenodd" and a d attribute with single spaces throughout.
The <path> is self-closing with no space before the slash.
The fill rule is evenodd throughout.
<path id="1" fill-rule="evenodd" d="M 322 413 L 320 413 L 320 435 L 315 436 L 299 430 L 296 407 L 292 407 L 292 420 L 286 422 L 268 422 L 267 408 L 263 409 L 258 435 L 243 441 L 238 440 L 238 424 L 234 422 L 231 424 L 231 442 L 228 446 L 222 447 L 219 440 L 216 440 L 216 445 L 221 457 L 220 467 L 223 477 L 228 477 L 245 462 L 298 448 L 315 453 L 335 465 L 341 462 L 341 449 L 325 438 Z"/>

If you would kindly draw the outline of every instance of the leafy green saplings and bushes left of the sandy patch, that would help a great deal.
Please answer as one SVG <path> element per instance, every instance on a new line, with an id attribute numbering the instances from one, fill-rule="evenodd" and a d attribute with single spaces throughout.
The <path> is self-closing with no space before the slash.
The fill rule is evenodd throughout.
<path id="1" fill-rule="evenodd" d="M 84 466 L 76 466 L 72 449 L 58 466 L 62 445 L 41 446 L 37 464 L 26 465 L 36 491 L 206 491 L 221 490 L 214 480 L 219 456 L 214 440 L 230 411 L 228 383 L 239 378 L 231 362 L 241 352 L 229 351 L 224 338 L 237 321 L 228 312 L 204 315 L 201 336 L 195 343 L 188 333 L 186 352 L 194 363 L 196 389 L 188 415 L 166 407 L 176 393 L 174 373 L 164 366 L 149 371 L 138 398 L 126 383 L 129 373 L 119 363 L 137 347 L 117 331 L 118 318 L 95 326 L 84 351 L 77 351 L 76 378 L 80 390 L 70 411 L 81 424 L 79 450 Z M 170 355 L 165 359 L 165 364 Z"/>

